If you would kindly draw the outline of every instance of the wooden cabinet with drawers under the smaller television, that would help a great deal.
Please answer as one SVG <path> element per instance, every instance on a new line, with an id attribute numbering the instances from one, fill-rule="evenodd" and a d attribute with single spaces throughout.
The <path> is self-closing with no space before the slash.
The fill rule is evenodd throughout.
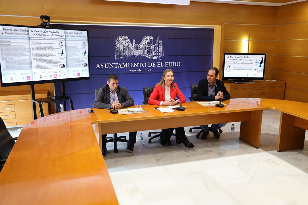
<path id="1" fill-rule="evenodd" d="M 254 83 L 224 82 L 231 98 L 271 98 L 283 100 L 284 81 L 255 81 Z"/>

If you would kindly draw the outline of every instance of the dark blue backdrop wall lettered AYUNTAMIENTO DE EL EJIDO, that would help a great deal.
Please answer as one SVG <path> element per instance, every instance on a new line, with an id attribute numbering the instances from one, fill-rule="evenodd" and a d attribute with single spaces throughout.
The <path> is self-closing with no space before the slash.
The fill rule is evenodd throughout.
<path id="1" fill-rule="evenodd" d="M 213 29 L 84 26 L 57 27 L 89 30 L 90 80 L 65 82 L 65 93 L 74 108 L 92 107 L 95 89 L 106 84 L 109 74 L 119 77 L 135 101 L 143 101 L 143 87 L 158 83 L 164 70 L 174 71 L 174 79 L 188 100 L 190 85 L 206 78 L 213 59 Z M 56 94 L 60 93 L 56 85 Z"/>

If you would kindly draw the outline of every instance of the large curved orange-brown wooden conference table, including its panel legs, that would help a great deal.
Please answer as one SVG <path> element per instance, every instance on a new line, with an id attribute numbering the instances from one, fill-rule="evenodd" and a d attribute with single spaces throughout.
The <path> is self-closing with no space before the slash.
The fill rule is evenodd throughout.
<path id="1" fill-rule="evenodd" d="M 240 121 L 240 139 L 259 148 L 262 112 L 273 109 L 281 112 L 277 151 L 304 147 L 307 103 L 263 98 L 223 102 L 223 108 L 185 102 L 184 111 L 166 113 L 154 109 L 158 106 L 135 105 L 130 108 L 146 112 L 129 115 L 88 108 L 36 119 L 23 128 L 0 173 L 0 202 L 118 204 L 101 154 L 102 134 Z"/>

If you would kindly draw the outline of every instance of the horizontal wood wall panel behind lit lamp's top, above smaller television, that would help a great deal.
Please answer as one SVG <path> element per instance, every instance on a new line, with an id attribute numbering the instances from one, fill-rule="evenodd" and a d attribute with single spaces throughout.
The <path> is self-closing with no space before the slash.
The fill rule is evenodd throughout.
<path id="1" fill-rule="evenodd" d="M 249 25 L 249 24 L 225 24 L 224 39 L 248 39 L 250 40 L 274 40 L 275 39 L 275 25 Z"/>

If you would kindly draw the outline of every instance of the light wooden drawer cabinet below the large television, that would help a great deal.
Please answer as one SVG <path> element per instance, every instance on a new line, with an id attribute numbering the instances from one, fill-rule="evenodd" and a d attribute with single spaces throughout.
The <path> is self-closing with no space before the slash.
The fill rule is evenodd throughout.
<path id="1" fill-rule="evenodd" d="M 47 90 L 35 90 L 35 98 L 46 98 Z M 36 105 L 37 117 L 39 107 Z M 43 105 L 48 114 L 48 105 Z M 45 115 L 46 115 L 45 114 Z M 30 90 L 0 92 L 0 116 L 6 126 L 25 125 L 33 120 Z"/>

